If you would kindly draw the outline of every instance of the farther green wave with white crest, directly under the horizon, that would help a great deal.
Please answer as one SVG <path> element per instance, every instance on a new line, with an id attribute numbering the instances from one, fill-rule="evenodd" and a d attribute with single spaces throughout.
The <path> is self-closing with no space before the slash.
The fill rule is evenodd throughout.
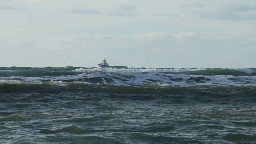
<path id="1" fill-rule="evenodd" d="M 63 68 L 19 68 L 0 67 L 0 77 L 24 76 L 24 77 L 45 77 L 45 76 L 68 76 L 81 73 L 94 72 L 116 72 L 120 74 L 136 74 L 148 72 L 160 72 L 168 74 L 188 74 L 188 75 L 231 75 L 231 76 L 256 76 L 256 68 L 83 68 L 83 67 L 63 67 Z"/>

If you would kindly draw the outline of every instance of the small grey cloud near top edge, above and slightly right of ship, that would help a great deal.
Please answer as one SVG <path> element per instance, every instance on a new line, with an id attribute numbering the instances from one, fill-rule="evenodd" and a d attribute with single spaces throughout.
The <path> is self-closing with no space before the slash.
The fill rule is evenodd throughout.
<path id="1" fill-rule="evenodd" d="M 107 16 L 139 16 L 137 8 L 133 4 L 121 4 L 114 7 L 114 11 L 108 12 Z"/>

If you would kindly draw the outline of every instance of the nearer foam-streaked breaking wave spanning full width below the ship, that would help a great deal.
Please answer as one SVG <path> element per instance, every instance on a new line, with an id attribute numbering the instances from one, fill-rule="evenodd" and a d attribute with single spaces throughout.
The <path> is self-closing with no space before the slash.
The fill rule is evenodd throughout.
<path id="1" fill-rule="evenodd" d="M 75 76 L 56 77 L 9 77 L 0 78 L 1 84 L 18 85 L 57 85 L 68 86 L 72 84 L 111 84 L 127 86 L 193 86 L 193 85 L 219 85 L 219 86 L 256 86 L 255 76 L 200 76 L 185 74 L 162 74 L 149 72 L 146 74 L 123 75 L 111 72 L 94 72 Z"/>

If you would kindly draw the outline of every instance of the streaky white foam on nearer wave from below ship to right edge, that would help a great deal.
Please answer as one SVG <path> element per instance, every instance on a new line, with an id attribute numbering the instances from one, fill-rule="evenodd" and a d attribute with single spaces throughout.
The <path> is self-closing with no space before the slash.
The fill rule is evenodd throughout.
<path id="1" fill-rule="evenodd" d="M 191 85 L 256 85 L 256 77 L 253 76 L 200 76 L 200 75 L 182 75 L 182 74 L 161 74 L 158 72 L 149 72 L 146 74 L 133 74 L 133 78 L 112 75 L 107 73 L 112 78 L 112 84 L 142 86 L 144 84 L 158 84 L 159 86 L 191 86 Z M 113 78 L 112 76 L 118 77 Z M 123 81 L 121 79 L 126 79 Z"/>

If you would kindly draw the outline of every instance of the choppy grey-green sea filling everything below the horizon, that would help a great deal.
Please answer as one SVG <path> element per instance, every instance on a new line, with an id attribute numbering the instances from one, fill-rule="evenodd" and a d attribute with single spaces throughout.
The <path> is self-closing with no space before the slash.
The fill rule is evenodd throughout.
<path id="1" fill-rule="evenodd" d="M 256 144 L 256 68 L 0 67 L 0 144 Z"/>

